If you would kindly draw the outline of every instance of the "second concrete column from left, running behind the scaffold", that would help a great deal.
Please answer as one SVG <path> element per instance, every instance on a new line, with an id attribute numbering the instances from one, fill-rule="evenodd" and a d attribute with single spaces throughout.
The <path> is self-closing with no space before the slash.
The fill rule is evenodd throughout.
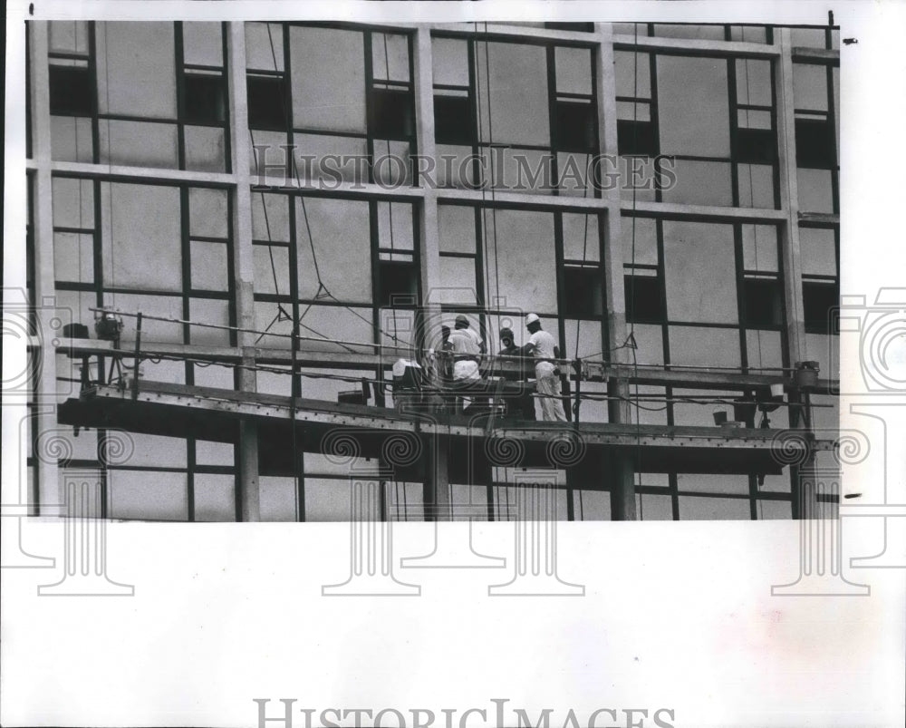
<path id="1" fill-rule="evenodd" d="M 229 24 L 228 83 L 230 98 L 230 163 L 236 178 L 233 205 L 233 250 L 236 270 L 236 324 L 255 328 L 255 259 L 252 249 L 252 194 L 249 175 L 250 150 L 246 97 L 246 30 L 241 21 Z M 237 383 L 243 392 L 257 391 L 255 371 L 255 335 L 239 332 L 237 344 L 242 349 L 243 367 Z M 260 480 L 258 480 L 258 427 L 244 420 L 239 424 L 236 488 L 239 489 L 240 518 L 261 520 Z"/>

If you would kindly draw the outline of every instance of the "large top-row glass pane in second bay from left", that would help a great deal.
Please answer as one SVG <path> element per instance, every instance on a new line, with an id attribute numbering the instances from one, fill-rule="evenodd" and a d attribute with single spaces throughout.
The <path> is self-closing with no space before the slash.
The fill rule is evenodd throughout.
<path id="1" fill-rule="evenodd" d="M 290 28 L 293 124 L 365 132 L 364 46 L 359 31 Z"/>

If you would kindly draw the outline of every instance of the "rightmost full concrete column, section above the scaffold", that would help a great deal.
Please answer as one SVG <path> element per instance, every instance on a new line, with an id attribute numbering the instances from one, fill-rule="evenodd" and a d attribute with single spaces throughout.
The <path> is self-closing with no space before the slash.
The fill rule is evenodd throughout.
<path id="1" fill-rule="evenodd" d="M 786 344 L 791 364 L 805 359 L 805 314 L 802 301 L 802 261 L 799 250 L 799 193 L 795 164 L 795 112 L 793 100 L 793 44 L 789 28 L 777 28 L 780 58 L 774 62 L 777 101 L 777 151 L 780 208 L 786 221 L 780 226 L 784 266 Z"/>

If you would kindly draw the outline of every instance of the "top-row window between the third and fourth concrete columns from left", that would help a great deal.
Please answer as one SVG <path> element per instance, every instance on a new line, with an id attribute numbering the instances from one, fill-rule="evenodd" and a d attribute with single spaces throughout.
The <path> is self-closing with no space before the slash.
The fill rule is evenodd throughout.
<path id="1" fill-rule="evenodd" d="M 512 191 L 597 194 L 590 48 L 435 36 L 432 56 L 440 184 L 474 187 L 486 171 Z"/>

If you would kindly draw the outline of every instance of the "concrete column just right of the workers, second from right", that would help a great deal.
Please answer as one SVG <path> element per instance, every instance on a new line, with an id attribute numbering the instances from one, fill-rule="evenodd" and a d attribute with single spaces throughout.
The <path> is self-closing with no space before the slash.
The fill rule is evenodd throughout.
<path id="1" fill-rule="evenodd" d="M 595 54 L 598 97 L 598 137 L 601 153 L 606 159 L 618 160 L 617 146 L 617 104 L 616 79 L 613 67 L 613 35 L 609 23 L 595 24 L 595 39 L 598 52 Z M 602 190 L 607 201 L 607 219 L 604 238 L 605 300 L 607 305 L 607 347 L 611 350 L 611 361 L 626 364 L 629 361 L 627 349 L 620 348 L 626 342 L 629 328 L 626 325 L 626 298 L 623 291 L 623 241 L 622 218 L 620 215 L 620 186 L 609 185 L 612 189 Z M 611 422 L 632 422 L 629 383 L 624 379 L 608 381 L 610 396 L 623 397 L 610 400 L 607 411 Z M 628 455 L 613 453 L 612 468 L 608 473 L 611 480 L 611 518 L 613 520 L 636 520 L 635 472 Z"/>

